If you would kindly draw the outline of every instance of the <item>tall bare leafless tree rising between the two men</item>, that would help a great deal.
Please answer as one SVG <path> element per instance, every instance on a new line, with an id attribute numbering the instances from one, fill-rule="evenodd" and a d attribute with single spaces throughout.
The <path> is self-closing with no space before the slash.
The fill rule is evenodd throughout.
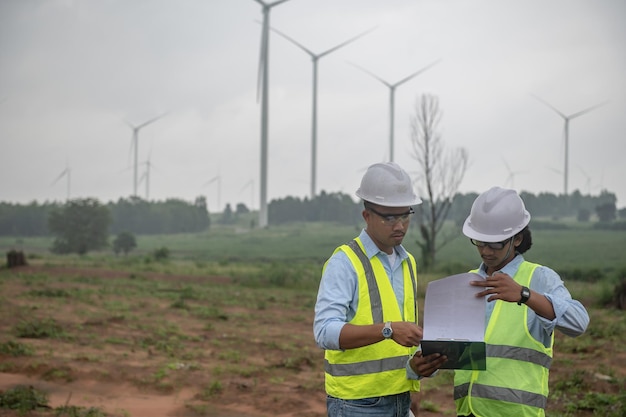
<path id="1" fill-rule="evenodd" d="M 440 236 L 468 164 L 465 148 L 447 150 L 438 132 L 441 110 L 439 99 L 429 94 L 418 96 L 411 116 L 411 144 L 417 161 L 417 191 L 423 203 L 417 221 L 421 238 L 424 269 L 435 264 L 436 254 L 456 233 Z"/>

